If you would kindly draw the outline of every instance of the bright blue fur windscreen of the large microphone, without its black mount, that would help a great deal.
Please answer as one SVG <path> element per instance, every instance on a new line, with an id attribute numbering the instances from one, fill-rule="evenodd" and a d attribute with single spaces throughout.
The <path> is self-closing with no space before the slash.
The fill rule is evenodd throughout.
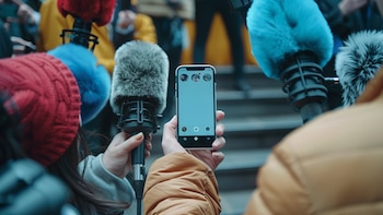
<path id="1" fill-rule="evenodd" d="M 314 0 L 254 0 L 247 12 L 252 53 L 266 76 L 279 80 L 285 59 L 300 51 L 316 55 L 324 67 L 333 55 L 333 35 Z"/>

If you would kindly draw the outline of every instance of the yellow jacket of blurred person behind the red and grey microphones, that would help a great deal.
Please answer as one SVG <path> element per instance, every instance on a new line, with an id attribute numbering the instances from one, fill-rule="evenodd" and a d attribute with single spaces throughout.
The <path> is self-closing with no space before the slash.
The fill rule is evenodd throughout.
<path id="1" fill-rule="evenodd" d="M 48 51 L 62 44 L 59 36 L 63 28 L 71 29 L 74 19 L 71 15 L 63 17 L 57 9 L 57 0 L 47 0 L 40 7 L 40 23 L 38 26 L 38 51 Z M 155 28 L 150 16 L 137 14 L 135 39 L 156 43 Z M 95 46 L 94 55 L 98 63 L 103 64 L 112 74 L 114 68 L 115 47 L 109 38 L 107 25 L 97 26 L 92 24 L 92 34 L 98 37 L 98 45 Z"/>

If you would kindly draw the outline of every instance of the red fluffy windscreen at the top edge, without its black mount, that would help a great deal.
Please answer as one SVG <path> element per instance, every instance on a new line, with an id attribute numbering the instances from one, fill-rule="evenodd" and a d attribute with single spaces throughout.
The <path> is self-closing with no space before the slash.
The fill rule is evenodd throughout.
<path id="1" fill-rule="evenodd" d="M 98 26 L 112 20 L 116 0 L 57 0 L 57 8 L 67 16 L 71 14 L 86 22 L 95 22 Z"/>

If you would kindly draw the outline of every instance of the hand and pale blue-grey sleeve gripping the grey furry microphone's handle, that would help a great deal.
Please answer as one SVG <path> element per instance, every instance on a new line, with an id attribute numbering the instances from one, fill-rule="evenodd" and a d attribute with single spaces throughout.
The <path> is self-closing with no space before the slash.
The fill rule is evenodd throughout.
<path id="1" fill-rule="evenodd" d="M 79 164 L 79 172 L 84 180 L 100 188 L 98 192 L 106 199 L 131 203 L 135 199 L 134 188 L 126 179 L 131 169 L 130 153 L 139 144 L 143 144 L 143 134 L 130 135 L 117 133 L 106 151 L 98 156 L 88 156 Z M 146 157 L 151 150 L 150 138 L 146 144 Z"/>

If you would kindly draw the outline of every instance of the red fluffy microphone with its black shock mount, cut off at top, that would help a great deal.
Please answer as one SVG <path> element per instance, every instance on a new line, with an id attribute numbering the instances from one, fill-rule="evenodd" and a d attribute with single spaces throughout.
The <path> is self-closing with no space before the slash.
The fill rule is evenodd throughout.
<path id="1" fill-rule="evenodd" d="M 58 0 L 57 8 L 62 16 L 71 14 L 74 17 L 72 29 L 62 29 L 60 37 L 65 44 L 66 37 L 70 38 L 70 43 L 81 45 L 89 48 L 89 44 L 93 43 L 91 50 L 93 51 L 98 44 L 98 38 L 91 34 L 92 23 L 98 26 L 106 25 L 113 16 L 116 0 Z"/>

